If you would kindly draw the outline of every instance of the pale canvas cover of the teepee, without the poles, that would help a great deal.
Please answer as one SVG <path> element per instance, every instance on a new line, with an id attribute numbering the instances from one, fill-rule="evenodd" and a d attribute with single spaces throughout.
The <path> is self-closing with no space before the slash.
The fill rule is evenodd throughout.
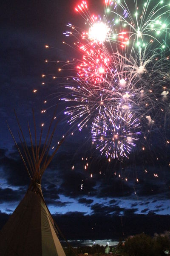
<path id="1" fill-rule="evenodd" d="M 27 191 L 0 231 L 0 256 L 65 256 L 42 195 Z"/>

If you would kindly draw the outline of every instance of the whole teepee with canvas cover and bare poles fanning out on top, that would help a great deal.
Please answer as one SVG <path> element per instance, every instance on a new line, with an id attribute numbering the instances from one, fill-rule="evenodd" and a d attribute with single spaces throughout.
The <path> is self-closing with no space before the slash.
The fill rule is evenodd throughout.
<path id="1" fill-rule="evenodd" d="M 33 145 L 28 124 L 31 150 L 29 150 L 29 147 L 26 144 L 26 139 L 18 119 L 17 122 L 20 128 L 19 137 L 22 151 L 17 145 L 8 126 L 31 182 L 23 200 L 14 210 L 2 230 L 0 230 L 0 256 L 65 256 L 57 236 L 58 233 L 55 223 L 45 204 L 41 190 L 42 175 L 63 141 L 62 138 L 53 154 L 48 156 L 57 126 L 56 124 L 54 128 L 52 128 L 54 119 L 55 113 L 51 119 L 45 137 L 45 143 L 43 143 L 43 145 L 41 145 L 42 129 L 40 133 L 40 141 L 37 143 L 35 119 L 35 145 Z"/>

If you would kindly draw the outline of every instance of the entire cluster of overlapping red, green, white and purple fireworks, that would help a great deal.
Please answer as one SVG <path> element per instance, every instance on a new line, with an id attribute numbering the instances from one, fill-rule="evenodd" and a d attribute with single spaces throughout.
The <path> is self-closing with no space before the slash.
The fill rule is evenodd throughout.
<path id="1" fill-rule="evenodd" d="M 64 33 L 76 39 L 82 56 L 69 63 L 77 72 L 67 78 L 69 93 L 60 98 L 68 103 L 65 114 L 79 130 L 92 127 L 101 154 L 127 157 L 140 134 L 169 120 L 170 5 L 105 0 L 100 16 L 82 1 L 75 10 L 85 28 L 68 23 Z"/>

